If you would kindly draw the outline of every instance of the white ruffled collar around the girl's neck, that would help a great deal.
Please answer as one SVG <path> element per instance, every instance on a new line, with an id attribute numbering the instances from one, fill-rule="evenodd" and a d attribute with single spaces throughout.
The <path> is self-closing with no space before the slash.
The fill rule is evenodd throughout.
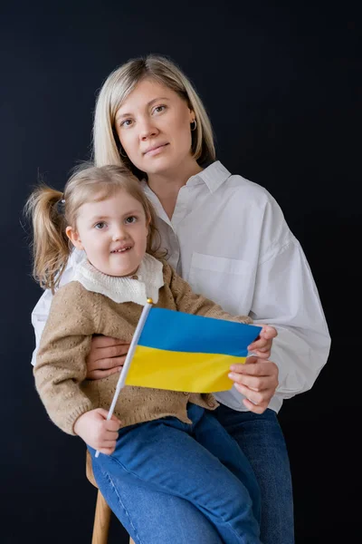
<path id="1" fill-rule="evenodd" d="M 148 253 L 133 276 L 107 276 L 84 258 L 75 265 L 72 279 L 79 281 L 88 291 L 108 296 L 115 302 L 136 302 L 142 306 L 148 298 L 157 303 L 158 290 L 165 283 L 162 263 Z"/>

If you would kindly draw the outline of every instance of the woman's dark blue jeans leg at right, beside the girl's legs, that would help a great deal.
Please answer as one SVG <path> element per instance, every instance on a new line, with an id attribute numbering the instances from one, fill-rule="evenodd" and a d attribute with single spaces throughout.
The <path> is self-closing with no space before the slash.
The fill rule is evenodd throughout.
<path id="1" fill-rule="evenodd" d="M 262 491 L 263 544 L 293 544 L 291 470 L 287 447 L 273 410 L 236 412 L 221 404 L 210 413 L 239 443 Z"/>

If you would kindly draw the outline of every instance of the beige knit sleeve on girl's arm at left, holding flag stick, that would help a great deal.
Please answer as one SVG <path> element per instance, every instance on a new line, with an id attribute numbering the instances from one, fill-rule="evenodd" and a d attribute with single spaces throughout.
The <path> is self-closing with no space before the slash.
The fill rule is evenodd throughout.
<path id="1" fill-rule="evenodd" d="M 75 434 L 78 417 L 92 409 L 81 382 L 87 374 L 91 337 L 98 332 L 100 306 L 101 296 L 78 282 L 60 288 L 53 296 L 33 368 L 35 387 L 49 417 L 69 434 Z"/>

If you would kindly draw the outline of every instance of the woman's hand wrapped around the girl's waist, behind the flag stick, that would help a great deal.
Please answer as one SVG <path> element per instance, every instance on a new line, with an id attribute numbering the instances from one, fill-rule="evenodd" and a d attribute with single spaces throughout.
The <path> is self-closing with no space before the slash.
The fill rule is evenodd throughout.
<path id="1" fill-rule="evenodd" d="M 99 380 L 119 372 L 122 368 L 129 344 L 110 336 L 94 336 L 90 344 L 90 353 L 86 359 L 87 379 Z"/>

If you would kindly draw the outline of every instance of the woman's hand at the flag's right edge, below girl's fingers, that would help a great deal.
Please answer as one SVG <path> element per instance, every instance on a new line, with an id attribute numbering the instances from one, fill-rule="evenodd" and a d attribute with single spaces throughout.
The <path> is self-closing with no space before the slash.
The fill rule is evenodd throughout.
<path id="1" fill-rule="evenodd" d="M 278 387 L 278 366 L 260 357 L 247 357 L 245 364 L 232 364 L 229 378 L 246 397 L 243 403 L 253 413 L 263 413 Z"/>

